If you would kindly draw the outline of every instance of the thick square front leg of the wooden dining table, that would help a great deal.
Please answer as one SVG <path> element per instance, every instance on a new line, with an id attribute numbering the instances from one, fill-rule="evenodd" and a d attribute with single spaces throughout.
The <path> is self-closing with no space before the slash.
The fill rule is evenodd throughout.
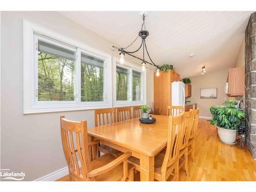
<path id="1" fill-rule="evenodd" d="M 140 181 L 154 181 L 154 156 L 140 155 Z"/>

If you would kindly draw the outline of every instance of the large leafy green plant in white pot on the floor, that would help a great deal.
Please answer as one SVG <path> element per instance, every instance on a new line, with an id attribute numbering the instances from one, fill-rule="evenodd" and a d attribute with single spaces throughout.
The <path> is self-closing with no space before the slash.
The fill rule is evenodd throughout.
<path id="1" fill-rule="evenodd" d="M 244 124 L 245 113 L 236 108 L 236 102 L 229 100 L 226 106 L 211 106 L 212 119 L 210 124 L 217 125 L 220 140 L 234 144 L 238 127 Z"/>

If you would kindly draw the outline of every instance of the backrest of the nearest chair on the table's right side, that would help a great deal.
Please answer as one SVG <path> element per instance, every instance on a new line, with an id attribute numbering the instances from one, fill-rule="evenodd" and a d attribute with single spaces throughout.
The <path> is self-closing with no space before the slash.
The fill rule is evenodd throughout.
<path id="1" fill-rule="evenodd" d="M 179 116 L 169 116 L 167 147 L 161 167 L 161 175 L 163 177 L 167 174 L 167 168 L 178 160 L 181 137 L 184 128 L 183 120 L 184 112 Z M 169 175 L 167 175 L 166 178 L 168 176 Z"/>

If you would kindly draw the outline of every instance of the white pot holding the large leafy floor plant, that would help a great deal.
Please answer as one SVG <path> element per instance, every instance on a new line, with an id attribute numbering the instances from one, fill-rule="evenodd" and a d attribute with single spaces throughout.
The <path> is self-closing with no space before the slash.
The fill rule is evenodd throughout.
<path id="1" fill-rule="evenodd" d="M 226 144 L 234 144 L 236 141 L 237 130 L 227 130 L 221 127 L 218 127 L 218 135 L 220 137 L 220 141 Z"/>

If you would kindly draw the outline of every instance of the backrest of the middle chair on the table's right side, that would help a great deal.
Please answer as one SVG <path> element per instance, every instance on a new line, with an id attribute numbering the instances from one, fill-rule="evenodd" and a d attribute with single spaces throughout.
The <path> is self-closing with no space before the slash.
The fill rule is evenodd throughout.
<path id="1" fill-rule="evenodd" d="M 188 111 L 184 113 L 184 129 L 182 132 L 182 137 L 181 137 L 181 146 L 180 150 L 185 148 L 188 143 L 188 138 L 189 138 L 189 131 L 191 130 L 192 126 L 192 112 Z"/>

